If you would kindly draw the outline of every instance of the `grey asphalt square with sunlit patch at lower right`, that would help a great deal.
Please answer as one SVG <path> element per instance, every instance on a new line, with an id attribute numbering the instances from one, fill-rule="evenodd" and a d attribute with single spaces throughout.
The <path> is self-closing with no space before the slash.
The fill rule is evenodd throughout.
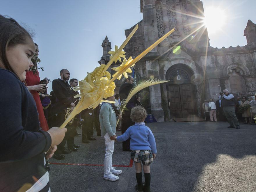
<path id="1" fill-rule="evenodd" d="M 226 122 L 146 125 L 153 131 L 158 151 L 151 166 L 151 191 L 256 191 L 255 125 L 242 124 L 239 130 L 227 128 Z M 75 137 L 75 144 L 82 145 L 79 151 L 50 162 L 104 164 L 104 138 L 94 137 L 97 140 L 90 144 Z M 130 152 L 115 142 L 113 164 L 129 162 Z M 123 171 L 119 180 L 110 182 L 103 179 L 102 166 L 51 165 L 51 191 L 135 191 L 134 166 L 118 169 Z"/>

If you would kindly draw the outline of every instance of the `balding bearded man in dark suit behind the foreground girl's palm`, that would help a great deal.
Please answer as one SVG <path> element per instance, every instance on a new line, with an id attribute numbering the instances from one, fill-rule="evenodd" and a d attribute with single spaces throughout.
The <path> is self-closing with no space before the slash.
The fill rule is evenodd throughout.
<path id="1" fill-rule="evenodd" d="M 56 115 L 56 122 L 55 125 L 60 127 L 63 122 L 65 121 L 65 109 L 71 108 L 71 110 L 74 109 L 74 91 L 72 90 L 71 86 L 68 84 L 68 80 L 70 77 L 70 72 L 67 69 L 62 69 L 60 71 L 61 78 L 54 79 L 52 81 L 52 90 L 54 92 L 54 95 L 56 97 L 56 103 L 54 106 L 52 106 L 51 111 L 52 114 Z M 72 150 L 67 150 L 65 148 L 65 144 L 67 141 L 67 137 L 72 134 L 72 129 L 70 125 L 66 125 L 67 132 L 65 134 L 65 137 L 63 141 L 57 146 L 57 150 L 54 154 L 55 159 L 64 159 L 65 156 L 63 153 L 71 153 Z M 74 140 L 73 140 L 74 141 Z M 68 140 L 68 146 L 73 146 L 74 143 L 69 143 L 70 140 Z"/>

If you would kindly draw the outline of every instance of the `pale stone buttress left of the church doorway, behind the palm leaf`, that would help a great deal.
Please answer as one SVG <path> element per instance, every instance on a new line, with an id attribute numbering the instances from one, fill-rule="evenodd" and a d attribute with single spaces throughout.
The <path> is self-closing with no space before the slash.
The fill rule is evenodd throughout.
<path id="1" fill-rule="evenodd" d="M 148 78 L 159 78 L 158 60 L 154 62 L 152 62 L 151 60 L 146 61 L 146 69 Z M 164 121 L 160 84 L 150 86 L 149 91 L 152 115 L 158 122 Z"/>

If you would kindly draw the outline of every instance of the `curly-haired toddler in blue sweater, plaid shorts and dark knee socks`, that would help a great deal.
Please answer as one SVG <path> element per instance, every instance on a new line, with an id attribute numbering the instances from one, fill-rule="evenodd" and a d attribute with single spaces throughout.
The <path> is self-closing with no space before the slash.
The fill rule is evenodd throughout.
<path id="1" fill-rule="evenodd" d="M 150 191 L 150 164 L 157 153 L 154 135 L 144 123 L 146 117 L 147 112 L 143 107 L 132 108 L 131 120 L 135 122 L 135 125 L 129 127 L 124 134 L 116 138 L 116 141 L 122 142 L 131 137 L 131 159 L 133 159 L 136 168 L 137 191 Z M 141 163 L 143 164 L 145 186 L 142 185 Z"/>

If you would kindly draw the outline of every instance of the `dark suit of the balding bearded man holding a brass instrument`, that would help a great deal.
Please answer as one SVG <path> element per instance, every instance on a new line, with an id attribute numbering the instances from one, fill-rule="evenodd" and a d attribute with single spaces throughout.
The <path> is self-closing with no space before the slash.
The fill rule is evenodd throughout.
<path id="1" fill-rule="evenodd" d="M 65 121 L 65 109 L 70 108 L 70 104 L 74 102 L 74 90 L 71 88 L 70 84 L 68 84 L 67 81 L 64 81 L 62 79 L 54 79 L 52 81 L 52 90 L 54 92 L 54 95 L 56 97 L 55 104 L 51 107 L 51 112 L 53 114 L 57 114 L 56 116 L 56 127 L 60 127 L 63 122 Z M 74 145 L 74 136 L 72 135 L 72 127 L 70 125 L 66 125 L 67 132 L 65 134 L 64 139 L 62 142 L 57 146 L 57 150 L 55 154 L 62 154 L 62 151 L 64 150 L 64 146 L 71 147 Z M 71 139 L 70 137 L 73 137 Z M 67 138 L 69 138 L 67 140 Z"/>

